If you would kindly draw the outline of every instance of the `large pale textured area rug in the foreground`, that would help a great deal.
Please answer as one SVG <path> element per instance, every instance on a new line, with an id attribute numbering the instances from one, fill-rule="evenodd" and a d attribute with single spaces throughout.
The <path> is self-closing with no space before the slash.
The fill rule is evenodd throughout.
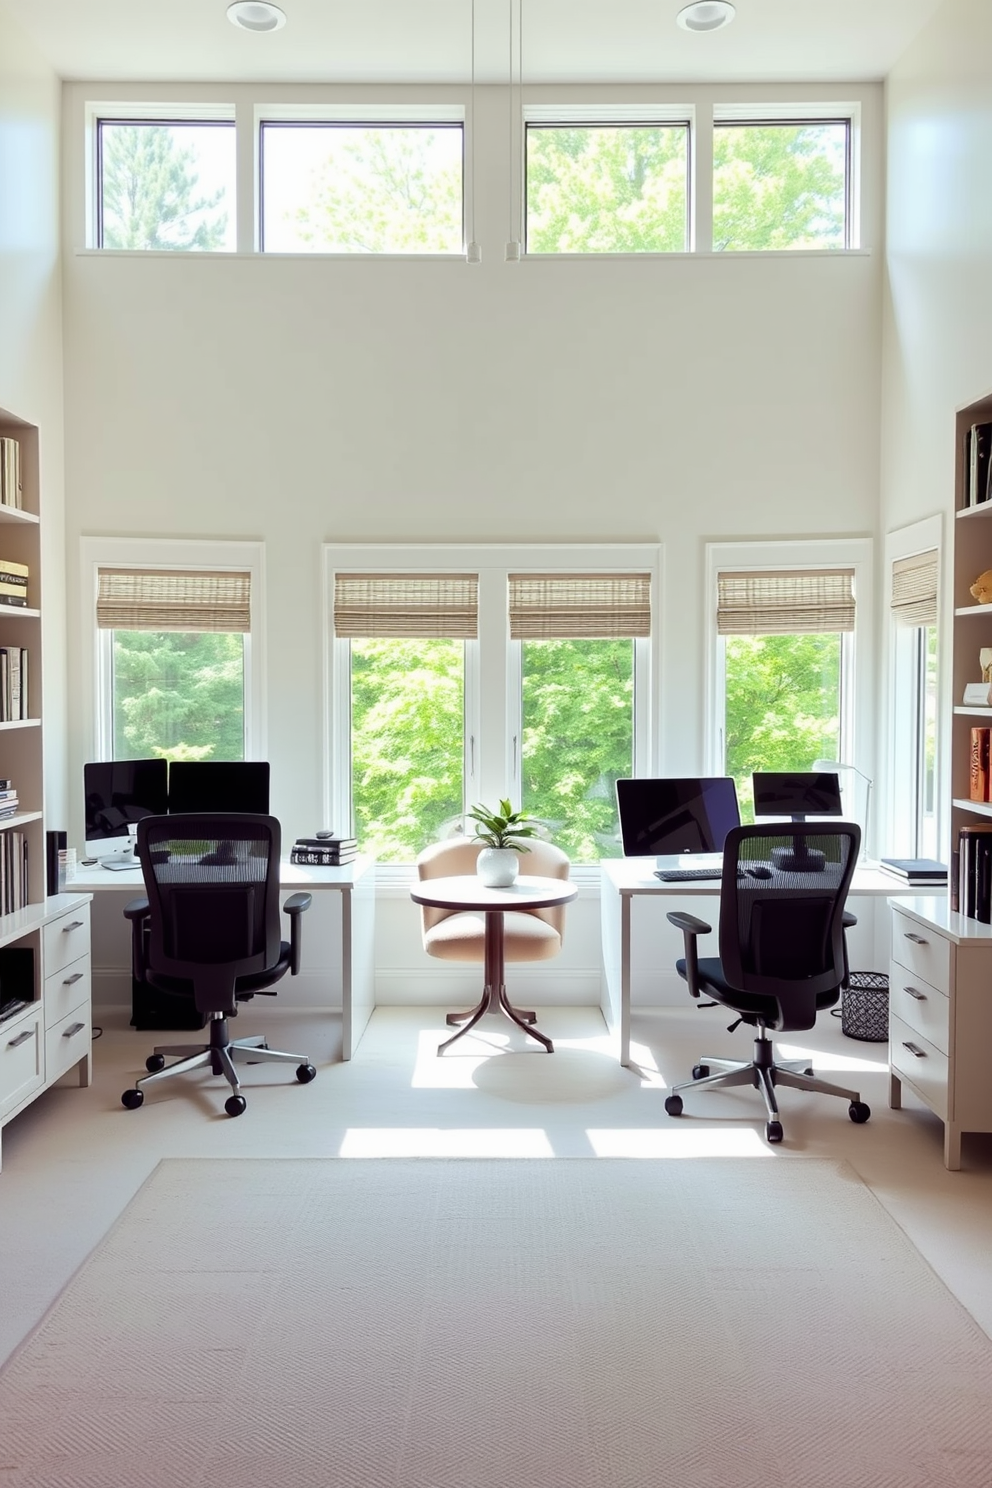
<path id="1" fill-rule="evenodd" d="M 168 1161 L 0 1375 L 0 1484 L 988 1488 L 991 1405 L 843 1164 Z"/>

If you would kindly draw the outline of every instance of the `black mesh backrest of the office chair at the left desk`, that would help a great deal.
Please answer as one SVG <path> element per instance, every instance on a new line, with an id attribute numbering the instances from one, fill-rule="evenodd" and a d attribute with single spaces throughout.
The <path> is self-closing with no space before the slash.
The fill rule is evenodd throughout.
<path id="1" fill-rule="evenodd" d="M 235 1012 L 235 982 L 280 960 L 275 817 L 144 817 L 137 853 L 149 897 L 149 978 L 187 979 L 201 1012 Z"/>

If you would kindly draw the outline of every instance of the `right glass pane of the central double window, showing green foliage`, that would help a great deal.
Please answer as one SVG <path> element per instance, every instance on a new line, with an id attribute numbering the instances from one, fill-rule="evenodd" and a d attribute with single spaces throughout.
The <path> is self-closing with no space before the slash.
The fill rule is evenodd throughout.
<path id="1" fill-rule="evenodd" d="M 521 646 L 524 809 L 576 863 L 620 857 L 614 787 L 634 772 L 634 641 Z"/>

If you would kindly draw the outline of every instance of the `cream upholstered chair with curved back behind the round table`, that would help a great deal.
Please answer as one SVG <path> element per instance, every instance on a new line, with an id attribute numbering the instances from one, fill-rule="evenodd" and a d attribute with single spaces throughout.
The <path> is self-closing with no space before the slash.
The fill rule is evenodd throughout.
<path id="1" fill-rule="evenodd" d="M 474 873 L 483 842 L 446 838 L 431 842 L 416 860 L 416 872 L 424 878 L 457 878 Z M 568 857 L 553 842 L 529 842 L 529 853 L 521 854 L 524 878 L 568 878 Z M 442 961 L 485 960 L 486 923 L 483 914 L 421 906 L 424 949 Z M 562 948 L 565 936 L 565 906 L 549 909 L 509 909 L 503 917 L 506 961 L 550 961 Z"/>

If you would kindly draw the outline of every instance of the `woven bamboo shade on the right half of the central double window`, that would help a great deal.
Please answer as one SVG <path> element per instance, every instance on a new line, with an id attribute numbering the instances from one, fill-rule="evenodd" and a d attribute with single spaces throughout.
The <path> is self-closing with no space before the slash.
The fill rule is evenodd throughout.
<path id="1" fill-rule="evenodd" d="M 651 634 L 650 573 L 512 573 L 510 638 L 631 638 Z"/>

